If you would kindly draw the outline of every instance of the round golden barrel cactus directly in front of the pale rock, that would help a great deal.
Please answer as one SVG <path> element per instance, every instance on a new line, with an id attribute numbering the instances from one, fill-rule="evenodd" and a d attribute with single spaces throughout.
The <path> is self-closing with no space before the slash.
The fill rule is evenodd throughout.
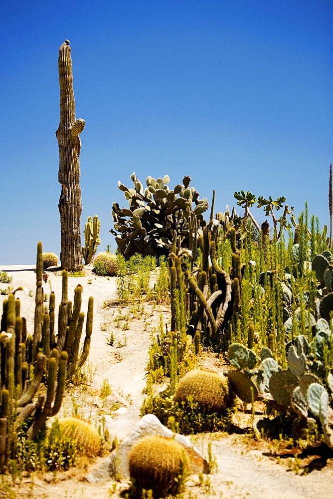
<path id="1" fill-rule="evenodd" d="M 152 490 L 155 498 L 181 492 L 179 475 L 185 467 L 183 447 L 157 435 L 144 437 L 129 455 L 130 476 L 137 491 Z"/>

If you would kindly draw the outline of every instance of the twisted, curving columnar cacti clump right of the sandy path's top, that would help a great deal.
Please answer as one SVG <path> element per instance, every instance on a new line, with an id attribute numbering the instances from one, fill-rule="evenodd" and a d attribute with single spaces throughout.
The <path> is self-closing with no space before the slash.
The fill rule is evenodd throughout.
<path id="1" fill-rule="evenodd" d="M 225 219 L 224 219 L 225 221 Z M 216 257 L 216 241 L 221 224 L 210 221 L 200 231 L 201 235 L 192 238 L 190 262 L 184 261 L 182 250 L 175 240 L 171 246 L 168 262 L 170 267 L 171 287 L 171 329 L 175 326 L 175 310 L 178 295 L 176 290 L 183 286 L 186 296 L 186 309 L 189 315 L 188 332 L 196 338 L 196 352 L 201 331 L 209 329 L 212 342 L 217 345 L 225 336 L 228 319 L 233 310 L 238 311 L 240 304 L 240 282 L 242 264 L 236 248 L 236 230 L 228 226 L 227 234 L 231 241 L 232 267 L 225 271 Z M 201 250 L 201 265 L 193 269 L 193 254 L 196 248 Z M 188 260 L 188 257 L 187 257 Z"/>

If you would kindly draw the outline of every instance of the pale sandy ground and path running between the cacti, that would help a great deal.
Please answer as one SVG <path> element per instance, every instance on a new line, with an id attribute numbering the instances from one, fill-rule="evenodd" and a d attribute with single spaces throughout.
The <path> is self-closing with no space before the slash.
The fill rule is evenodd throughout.
<path id="1" fill-rule="evenodd" d="M 21 300 L 21 315 L 27 319 L 28 332 L 33 331 L 34 318 L 34 265 L 0 266 L 13 277 L 11 284 L 23 286 L 32 296 L 18 291 Z M 69 277 L 68 297 L 74 297 L 74 288 L 83 286 L 82 311 L 87 310 L 89 296 L 94 297 L 94 326 L 89 362 L 86 363 L 90 382 L 88 393 L 82 398 L 80 393 L 67 394 L 62 413 L 73 415 L 76 412 L 83 419 L 99 424 L 97 401 L 103 381 L 107 380 L 114 393 L 130 401 L 123 414 L 105 412 L 105 424 L 112 436 L 123 439 L 140 419 L 140 407 L 146 385 L 148 349 L 152 333 L 160 316 L 164 322 L 168 317 L 167 307 L 138 304 L 132 309 L 121 310 L 117 303 L 116 279 L 95 276 L 86 267 L 84 277 Z M 57 269 L 47 270 L 48 281 L 43 285 L 44 293 L 55 292 L 56 307 L 61 299 L 61 273 Z M 91 283 L 89 283 L 91 282 Z M 7 284 L 0 283 L 5 289 Z M 0 301 L 5 298 L 0 295 Z M 47 304 L 47 303 L 45 303 Z M 127 315 L 126 315 L 127 314 Z M 121 316 L 125 319 L 121 319 Z M 115 320 L 116 319 L 116 320 Z M 119 325 L 120 327 L 117 327 Z M 114 345 L 107 339 L 114 335 Z M 78 390 L 79 392 L 79 390 Z M 112 411 L 111 411 L 112 412 Z M 201 483 L 192 476 L 187 484 L 184 499 L 223 498 L 223 499 L 329 499 L 333 497 L 333 459 L 323 461 L 313 456 L 301 463 L 299 474 L 295 473 L 294 457 L 277 460 L 263 442 L 245 441 L 243 435 L 207 434 L 192 437 L 195 445 L 207 455 L 207 443 L 212 442 L 213 454 L 217 461 L 217 471 L 204 477 Z M 97 463 L 103 458 L 99 458 Z M 301 476 L 302 467 L 310 461 L 318 464 L 308 475 Z M 297 462 L 296 462 L 297 464 Z M 89 463 L 91 470 L 96 463 Z M 316 468 L 314 466 L 314 468 Z M 290 470 L 290 471 L 288 471 Z M 104 499 L 120 498 L 127 489 L 127 482 L 107 482 L 98 485 L 87 484 L 80 479 L 86 469 L 74 469 L 66 473 L 35 476 L 23 480 L 18 487 L 11 488 L 19 498 L 69 498 Z M 8 491 L 0 491 L 0 497 L 9 497 Z"/>

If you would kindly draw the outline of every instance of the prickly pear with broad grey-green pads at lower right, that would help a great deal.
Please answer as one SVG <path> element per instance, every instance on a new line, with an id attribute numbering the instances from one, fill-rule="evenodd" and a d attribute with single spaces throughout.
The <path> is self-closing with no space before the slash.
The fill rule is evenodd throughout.
<path id="1" fill-rule="evenodd" d="M 327 362 L 332 342 L 329 324 L 325 319 L 319 319 L 312 343 L 299 335 L 286 345 L 287 369 L 279 366 L 266 347 L 261 351 L 259 366 L 255 367 L 258 363 L 256 354 L 235 343 L 228 352 L 230 363 L 236 368 L 228 372 L 230 385 L 246 403 L 262 400 L 280 413 L 294 414 L 295 436 L 300 428 L 311 428 L 311 415 L 319 418 L 325 442 L 333 449 L 333 409 L 330 405 L 333 375 Z"/>

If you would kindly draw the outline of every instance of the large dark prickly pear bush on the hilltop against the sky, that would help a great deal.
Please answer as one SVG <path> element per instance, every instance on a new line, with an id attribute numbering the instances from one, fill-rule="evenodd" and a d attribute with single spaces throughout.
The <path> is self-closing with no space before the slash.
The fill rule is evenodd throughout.
<path id="1" fill-rule="evenodd" d="M 110 232 L 116 236 L 118 249 L 127 258 L 134 253 L 167 255 L 173 238 L 179 236 L 181 246 L 189 247 L 191 235 L 197 233 L 208 208 L 206 198 L 199 199 L 191 179 L 184 177 L 182 185 L 169 189 L 169 178 L 147 178 L 147 188 L 131 175 L 134 188 L 118 183 L 129 202 L 129 208 L 113 203 L 112 217 L 115 223 Z M 192 205 L 194 203 L 194 208 Z M 194 218 L 194 215 L 196 216 Z"/>

